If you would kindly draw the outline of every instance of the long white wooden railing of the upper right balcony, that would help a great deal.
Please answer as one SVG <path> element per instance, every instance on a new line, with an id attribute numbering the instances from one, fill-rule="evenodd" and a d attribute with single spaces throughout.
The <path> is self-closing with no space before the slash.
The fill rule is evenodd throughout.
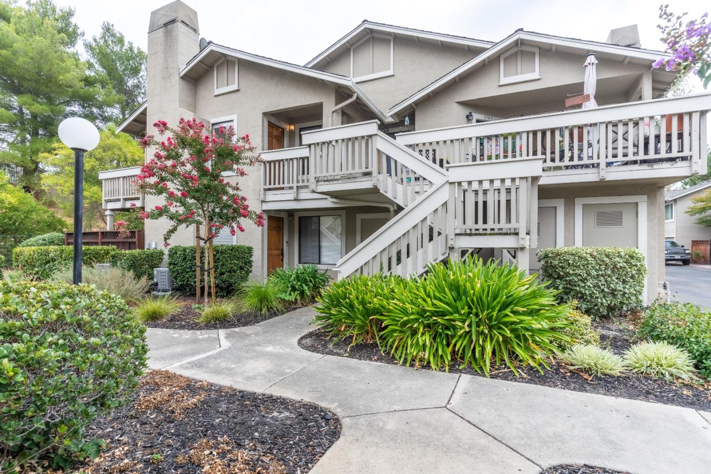
<path id="1" fill-rule="evenodd" d="M 655 166 L 693 175 L 704 172 L 708 109 L 710 94 L 672 97 L 412 131 L 397 142 L 442 167 L 540 157 L 541 183 L 574 181 L 576 174 L 604 180 L 609 171 Z"/>

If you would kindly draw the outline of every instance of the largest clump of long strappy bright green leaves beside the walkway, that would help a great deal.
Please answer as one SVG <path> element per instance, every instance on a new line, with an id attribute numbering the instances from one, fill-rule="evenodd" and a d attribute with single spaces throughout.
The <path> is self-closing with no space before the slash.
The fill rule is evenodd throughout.
<path id="1" fill-rule="evenodd" d="M 515 266 L 463 262 L 429 264 L 421 279 L 393 279 L 375 301 L 382 315 L 380 343 L 397 360 L 429 364 L 434 370 L 471 364 L 488 375 L 493 363 L 546 365 L 542 355 L 554 340 L 568 340 L 557 328 L 568 325 L 567 306 L 556 292 Z"/>

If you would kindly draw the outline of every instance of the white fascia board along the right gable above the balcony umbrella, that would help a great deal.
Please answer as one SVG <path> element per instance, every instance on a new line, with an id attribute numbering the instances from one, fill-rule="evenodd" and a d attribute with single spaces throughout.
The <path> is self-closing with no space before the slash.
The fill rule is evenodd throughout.
<path id="1" fill-rule="evenodd" d="M 597 51 L 599 53 L 611 53 L 615 55 L 630 56 L 633 58 L 641 58 L 646 60 L 657 60 L 658 58 L 668 56 L 668 54 L 666 53 L 653 50 L 639 50 L 637 48 L 608 45 L 606 43 L 596 43 L 594 41 L 572 40 L 567 38 L 560 38 L 557 36 L 543 35 L 541 33 L 517 31 L 512 35 L 508 36 L 508 38 L 504 38 L 500 42 L 496 43 L 496 45 L 493 45 L 491 48 L 488 48 L 488 50 L 483 51 L 480 55 L 471 58 L 469 61 L 459 66 L 459 68 L 451 70 L 446 75 L 427 85 L 427 87 L 424 87 L 424 89 L 415 92 L 415 94 L 411 95 L 410 97 L 407 97 L 407 99 L 396 104 L 394 107 L 387 111 L 387 114 L 389 116 L 397 114 L 397 112 L 400 112 L 400 110 L 404 109 L 413 102 L 417 102 L 419 99 L 430 95 L 432 92 L 437 90 L 437 88 L 447 84 L 447 82 L 453 80 L 454 77 L 459 76 L 462 72 L 466 72 L 470 68 L 473 68 L 474 65 L 478 65 L 484 60 L 488 60 L 488 58 L 491 58 L 493 55 L 500 53 L 501 50 L 508 48 L 511 43 L 518 42 L 520 40 L 545 41 L 546 43 L 550 43 L 557 46 L 570 46 L 571 48 L 587 49 L 591 51 Z"/>

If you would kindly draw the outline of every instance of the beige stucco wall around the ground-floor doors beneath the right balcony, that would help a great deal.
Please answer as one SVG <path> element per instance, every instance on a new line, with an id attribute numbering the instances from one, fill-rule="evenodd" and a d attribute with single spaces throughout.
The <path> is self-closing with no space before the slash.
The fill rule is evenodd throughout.
<path id="1" fill-rule="evenodd" d="M 647 299 L 656 298 L 664 281 L 664 188 L 654 183 L 624 183 L 624 185 L 575 185 L 565 188 L 542 186 L 539 199 L 564 199 L 563 229 L 564 245 L 575 244 L 575 198 L 602 196 L 645 195 L 647 199 L 647 247 L 648 266 Z"/>

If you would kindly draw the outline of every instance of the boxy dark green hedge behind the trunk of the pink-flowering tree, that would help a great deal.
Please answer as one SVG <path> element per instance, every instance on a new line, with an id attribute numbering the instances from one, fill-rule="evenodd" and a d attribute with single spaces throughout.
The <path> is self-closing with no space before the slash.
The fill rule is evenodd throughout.
<path id="1" fill-rule="evenodd" d="M 215 245 L 215 289 L 218 296 L 238 291 L 252 273 L 254 249 L 247 245 Z M 204 255 L 204 254 L 203 254 Z M 168 250 L 168 268 L 178 289 L 195 292 L 195 247 L 176 245 Z"/>

